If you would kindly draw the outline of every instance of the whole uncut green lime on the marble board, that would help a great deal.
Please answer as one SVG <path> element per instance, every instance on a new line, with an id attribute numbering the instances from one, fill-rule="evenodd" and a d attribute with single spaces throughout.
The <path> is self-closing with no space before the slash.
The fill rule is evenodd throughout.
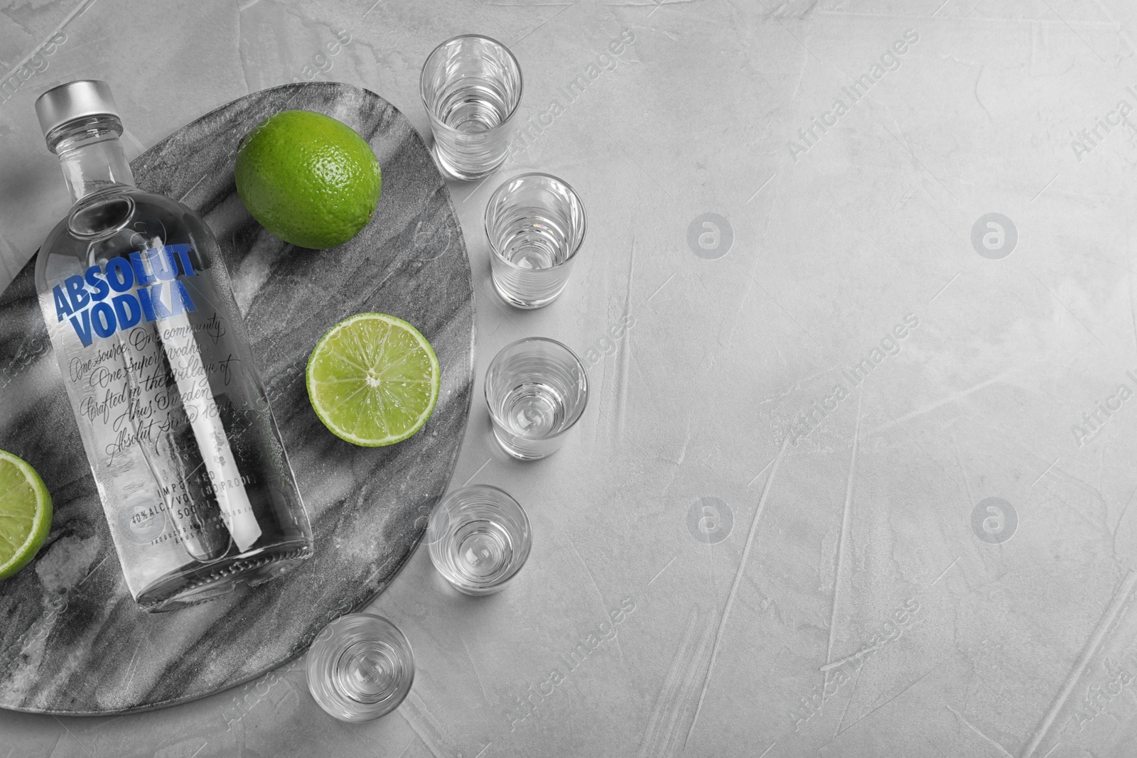
<path id="1" fill-rule="evenodd" d="M 324 114 L 282 110 L 236 152 L 236 193 L 266 230 L 322 250 L 359 233 L 375 213 L 382 175 L 358 132 Z"/>

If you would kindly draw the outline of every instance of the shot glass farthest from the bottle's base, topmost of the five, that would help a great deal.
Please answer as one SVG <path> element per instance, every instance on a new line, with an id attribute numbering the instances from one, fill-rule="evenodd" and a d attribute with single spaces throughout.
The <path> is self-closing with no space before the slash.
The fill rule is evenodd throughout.
<path id="1" fill-rule="evenodd" d="M 508 48 L 478 34 L 447 40 L 426 57 L 418 88 L 445 172 L 479 180 L 505 161 L 522 88 Z"/>

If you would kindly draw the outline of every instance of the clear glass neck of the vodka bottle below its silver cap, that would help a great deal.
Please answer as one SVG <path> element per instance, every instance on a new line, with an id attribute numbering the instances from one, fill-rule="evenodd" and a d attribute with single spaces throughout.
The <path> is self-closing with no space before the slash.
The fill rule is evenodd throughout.
<path id="1" fill-rule="evenodd" d="M 123 125 L 113 116 L 78 119 L 48 134 L 48 148 L 59 156 L 72 203 L 108 186 L 134 186 L 131 165 L 118 136 Z"/>

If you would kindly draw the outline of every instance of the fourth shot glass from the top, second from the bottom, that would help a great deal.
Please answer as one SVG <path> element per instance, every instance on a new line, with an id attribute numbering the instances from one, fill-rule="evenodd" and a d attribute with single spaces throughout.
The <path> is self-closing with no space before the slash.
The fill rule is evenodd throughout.
<path id="1" fill-rule="evenodd" d="M 532 533 L 521 503 L 488 484 L 442 498 L 426 524 L 431 563 L 459 592 L 499 592 L 529 557 Z"/>

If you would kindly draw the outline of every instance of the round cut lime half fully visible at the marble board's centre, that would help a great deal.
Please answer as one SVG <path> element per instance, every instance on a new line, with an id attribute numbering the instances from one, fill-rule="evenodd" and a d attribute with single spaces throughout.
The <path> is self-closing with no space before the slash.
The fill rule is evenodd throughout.
<path id="1" fill-rule="evenodd" d="M 438 358 L 418 330 L 358 314 L 327 331 L 308 358 L 308 399 L 332 434 L 377 448 L 406 440 L 438 402 Z"/>

